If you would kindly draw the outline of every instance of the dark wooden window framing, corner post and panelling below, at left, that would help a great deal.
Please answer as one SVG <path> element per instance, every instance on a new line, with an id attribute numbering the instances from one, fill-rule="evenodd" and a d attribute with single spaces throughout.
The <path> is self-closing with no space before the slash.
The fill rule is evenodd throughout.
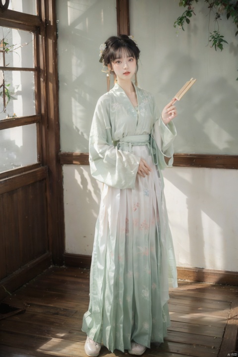
<path id="1" fill-rule="evenodd" d="M 37 123 L 39 163 L 0 173 L 0 280 L 10 291 L 51 265 L 52 256 L 60 264 L 64 252 L 56 0 L 37 0 L 37 10 L 38 16 L 12 10 L 0 14 L 5 26 L 34 32 L 37 52 L 36 115 L 0 123 L 0 130 Z"/>

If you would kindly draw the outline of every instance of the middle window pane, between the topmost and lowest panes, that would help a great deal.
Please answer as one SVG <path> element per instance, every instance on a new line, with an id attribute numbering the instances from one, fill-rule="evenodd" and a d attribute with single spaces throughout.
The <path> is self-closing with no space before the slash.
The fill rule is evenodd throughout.
<path id="1" fill-rule="evenodd" d="M 0 71 L 0 81 L 2 77 Z M 9 102 L 4 109 L 2 87 L 0 88 L 0 120 L 9 117 L 24 117 L 36 114 L 35 83 L 32 71 L 3 71 Z"/>

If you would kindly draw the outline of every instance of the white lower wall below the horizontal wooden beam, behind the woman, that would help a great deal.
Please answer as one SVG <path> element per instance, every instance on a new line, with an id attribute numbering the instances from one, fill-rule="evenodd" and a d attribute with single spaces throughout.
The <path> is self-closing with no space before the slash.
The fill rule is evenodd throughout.
<path id="1" fill-rule="evenodd" d="M 63 176 L 66 251 L 91 255 L 101 184 L 89 166 Z M 177 265 L 238 271 L 238 171 L 174 167 L 164 178 Z"/>

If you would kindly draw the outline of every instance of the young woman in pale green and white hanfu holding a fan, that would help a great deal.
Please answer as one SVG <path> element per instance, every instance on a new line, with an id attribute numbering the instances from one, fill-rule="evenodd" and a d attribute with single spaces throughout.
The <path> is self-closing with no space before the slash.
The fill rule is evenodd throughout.
<path id="1" fill-rule="evenodd" d="M 91 174 L 104 185 L 82 327 L 88 356 L 98 356 L 101 343 L 142 355 L 163 342 L 169 280 L 177 286 L 161 173 L 173 161 L 177 110 L 172 100 L 158 118 L 153 96 L 133 84 L 139 53 L 126 35 L 103 45 L 117 83 L 98 100 L 89 138 Z"/>

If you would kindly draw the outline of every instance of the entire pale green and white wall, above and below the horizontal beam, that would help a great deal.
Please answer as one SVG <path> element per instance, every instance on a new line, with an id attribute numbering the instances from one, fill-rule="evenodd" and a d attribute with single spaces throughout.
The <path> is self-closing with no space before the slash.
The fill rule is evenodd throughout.
<path id="1" fill-rule="evenodd" d="M 115 5 L 65 3 L 58 1 L 61 151 L 87 152 L 93 111 L 106 91 L 98 47 L 117 33 Z M 108 11 L 104 23 L 102 9 Z M 185 80 L 197 78 L 178 104 L 176 152 L 237 154 L 238 45 L 231 22 L 225 24 L 228 49 L 215 53 L 206 47 L 207 26 L 199 20 L 205 8 L 198 9 L 192 32 L 178 37 L 173 23 L 182 8 L 174 0 L 131 0 L 130 11 L 131 34 L 141 49 L 139 85 L 155 94 L 159 108 Z M 174 167 L 164 176 L 177 265 L 238 271 L 237 170 Z M 65 165 L 63 179 L 66 251 L 91 255 L 100 184 L 89 166 Z"/>

